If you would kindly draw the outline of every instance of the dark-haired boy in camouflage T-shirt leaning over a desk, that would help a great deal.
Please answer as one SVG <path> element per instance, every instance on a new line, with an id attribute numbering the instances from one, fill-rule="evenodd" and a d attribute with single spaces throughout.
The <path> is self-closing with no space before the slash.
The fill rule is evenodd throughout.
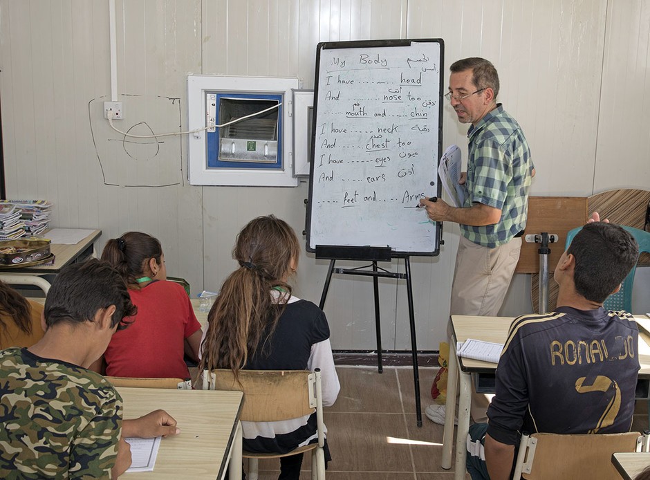
<path id="1" fill-rule="evenodd" d="M 62 269 L 45 334 L 0 351 L 0 478 L 115 478 L 131 465 L 125 437 L 177 434 L 163 410 L 122 421 L 122 398 L 87 368 L 136 308 L 120 274 L 91 259 Z"/>

